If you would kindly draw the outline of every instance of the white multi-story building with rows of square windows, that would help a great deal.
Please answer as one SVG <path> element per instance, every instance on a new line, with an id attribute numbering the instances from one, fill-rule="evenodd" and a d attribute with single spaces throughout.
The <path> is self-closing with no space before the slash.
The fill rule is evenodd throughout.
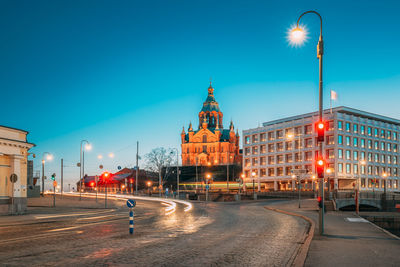
<path id="1" fill-rule="evenodd" d="M 300 176 L 302 188 L 314 189 L 318 119 L 314 112 L 244 130 L 245 181 L 261 190 L 292 190 Z M 324 120 L 329 189 L 384 190 L 386 180 L 388 191 L 399 191 L 400 120 L 348 107 L 325 110 Z M 295 177 L 294 169 L 303 171 Z"/>

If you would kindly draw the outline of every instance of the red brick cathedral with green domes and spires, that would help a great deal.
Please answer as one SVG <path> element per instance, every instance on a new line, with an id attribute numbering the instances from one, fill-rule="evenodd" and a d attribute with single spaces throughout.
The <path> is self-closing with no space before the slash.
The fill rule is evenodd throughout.
<path id="1" fill-rule="evenodd" d="M 226 165 L 240 164 L 239 133 L 231 121 L 224 129 L 223 113 L 214 98 L 214 88 L 208 87 L 208 96 L 199 113 L 199 126 L 194 130 L 189 124 L 188 132 L 183 127 L 182 165 Z"/>

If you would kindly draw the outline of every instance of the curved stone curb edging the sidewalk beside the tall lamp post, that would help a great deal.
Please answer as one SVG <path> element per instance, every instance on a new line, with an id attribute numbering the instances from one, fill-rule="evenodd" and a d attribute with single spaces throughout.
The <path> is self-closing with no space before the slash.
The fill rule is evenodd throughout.
<path id="1" fill-rule="evenodd" d="M 305 238 L 305 240 L 304 240 L 303 244 L 301 245 L 300 249 L 297 251 L 297 254 L 296 254 L 296 256 L 295 256 L 295 258 L 294 258 L 294 260 L 292 262 L 292 266 L 295 266 L 295 267 L 304 266 L 304 263 L 306 261 L 306 257 L 307 257 L 307 254 L 308 254 L 308 250 L 310 248 L 311 241 L 312 241 L 312 239 L 314 237 L 314 231 L 315 231 L 315 223 L 314 223 L 314 221 L 311 220 L 310 218 L 308 218 L 308 217 L 306 217 L 304 215 L 298 214 L 298 213 L 289 212 L 289 211 L 285 211 L 285 210 L 280 210 L 280 209 L 276 209 L 276 208 L 270 208 L 270 207 L 264 207 L 264 208 L 267 209 L 267 210 L 272 210 L 272 211 L 275 211 L 275 212 L 280 212 L 280 213 L 283 213 L 283 214 L 300 217 L 300 218 L 302 218 L 303 220 L 307 221 L 310 224 L 310 228 L 308 230 L 308 233 L 305 234 L 305 235 L 307 235 L 307 237 Z"/>

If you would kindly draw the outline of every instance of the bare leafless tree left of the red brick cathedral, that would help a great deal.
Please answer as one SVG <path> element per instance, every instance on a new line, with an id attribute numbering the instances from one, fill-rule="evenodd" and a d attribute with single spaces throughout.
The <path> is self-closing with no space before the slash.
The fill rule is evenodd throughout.
<path id="1" fill-rule="evenodd" d="M 145 155 L 146 167 L 151 171 L 158 172 L 158 192 L 160 196 L 165 180 L 162 177 L 162 169 L 166 167 L 167 173 L 168 167 L 174 163 L 174 155 L 175 152 L 172 149 L 165 149 L 164 147 L 154 148 Z"/>

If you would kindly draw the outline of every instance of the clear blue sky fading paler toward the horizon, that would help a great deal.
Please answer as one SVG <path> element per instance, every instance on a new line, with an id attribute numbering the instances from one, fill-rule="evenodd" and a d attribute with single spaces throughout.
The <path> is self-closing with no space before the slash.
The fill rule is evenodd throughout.
<path id="1" fill-rule="evenodd" d="M 35 167 L 43 151 L 54 154 L 47 175 L 64 158 L 73 181 L 82 139 L 93 144 L 88 174 L 98 154 L 115 153 L 101 161 L 110 171 L 132 166 L 136 140 L 141 155 L 179 147 L 210 76 L 225 126 L 314 111 L 317 17 L 304 17 L 308 43 L 286 40 L 308 9 L 324 18 L 324 81 L 336 105 L 399 118 L 397 1 L 3 0 L 0 124 L 30 132 Z"/>

